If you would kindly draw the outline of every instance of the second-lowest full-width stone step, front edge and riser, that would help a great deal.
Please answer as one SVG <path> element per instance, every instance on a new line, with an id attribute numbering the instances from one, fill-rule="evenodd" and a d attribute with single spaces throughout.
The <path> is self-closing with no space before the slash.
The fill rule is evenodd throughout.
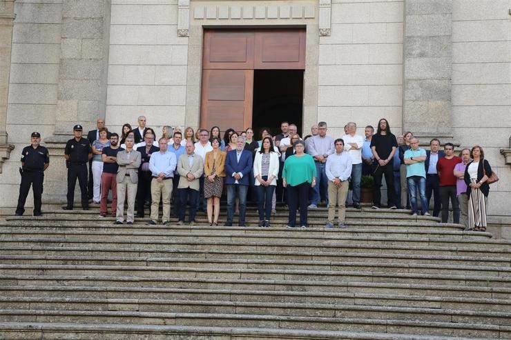
<path id="1" fill-rule="evenodd" d="M 298 317 L 255 314 L 180 312 L 124 312 L 86 310 L 0 310 L 0 322 L 137 323 L 151 325 L 211 326 L 244 328 L 287 328 L 342 330 L 348 332 L 392 332 L 461 337 L 505 338 L 510 326 L 486 323 L 363 319 L 347 317 Z"/>

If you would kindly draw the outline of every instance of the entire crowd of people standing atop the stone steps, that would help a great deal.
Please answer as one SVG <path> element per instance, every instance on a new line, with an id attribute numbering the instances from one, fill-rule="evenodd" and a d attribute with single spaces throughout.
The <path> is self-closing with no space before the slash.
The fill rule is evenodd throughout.
<path id="1" fill-rule="evenodd" d="M 68 192 L 65 209 L 73 210 L 75 184 L 79 181 L 81 207 L 99 203 L 99 214 L 108 214 L 107 198 L 112 192 L 111 216 L 116 224 L 133 224 L 151 207 L 148 224 L 170 225 L 171 214 L 177 224 L 194 225 L 197 210 L 204 210 L 209 225 L 218 226 L 220 199 L 226 196 L 225 226 L 245 225 L 247 199 L 257 203 L 259 226 L 269 227 L 276 201 L 289 208 L 288 228 L 307 228 L 307 212 L 320 204 L 328 207 L 325 227 L 345 228 L 348 203 L 360 208 L 362 176 L 374 178 L 372 208 L 381 205 L 383 177 L 387 185 L 387 208 L 407 208 L 417 216 L 432 214 L 447 222 L 450 206 L 453 222 L 467 230 L 485 230 L 488 179 L 492 168 L 483 149 L 474 146 L 456 156 L 454 145 L 438 139 L 430 141 L 430 150 L 420 148 L 412 132 L 395 136 L 387 119 L 380 119 L 376 133 L 365 127 L 357 134 L 357 125 L 349 122 L 343 137 L 328 134 L 325 121 L 311 126 L 311 134 L 300 137 L 297 126 L 282 122 L 280 132 L 260 130 L 255 140 L 252 128 L 237 132 L 231 128 L 222 137 L 220 128 L 211 130 L 163 126 L 161 137 L 146 126 L 146 117 L 138 117 L 138 126 L 126 123 L 119 134 L 108 131 L 104 119 L 97 128 L 82 137 L 83 127 L 73 128 L 74 138 L 66 143 L 64 157 L 68 168 Z M 32 133 L 32 143 L 23 149 L 21 186 L 17 215 L 24 212 L 30 185 L 35 198 L 35 216 L 41 215 L 44 170 L 49 166 L 48 150 L 39 145 L 41 136 Z M 350 193 L 350 194 L 349 194 Z M 348 199 L 349 198 L 349 199 Z M 349 202 L 348 202 L 349 201 Z M 124 203 L 127 203 L 124 217 Z M 171 210 L 171 202 L 173 210 Z M 420 203 L 420 204 L 419 204 Z M 338 207 L 337 223 L 334 223 Z M 136 208 L 136 213 L 135 213 Z"/>

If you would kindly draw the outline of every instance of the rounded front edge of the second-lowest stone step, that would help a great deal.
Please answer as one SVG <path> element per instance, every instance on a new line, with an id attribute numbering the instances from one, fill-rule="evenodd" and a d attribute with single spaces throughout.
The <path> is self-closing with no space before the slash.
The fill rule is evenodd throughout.
<path id="1" fill-rule="evenodd" d="M 124 312 L 113 310 L 6 310 L 0 309 L 0 315 L 44 315 L 48 316 L 75 316 L 75 317 L 144 317 L 144 318 L 168 318 L 168 319 L 231 319 L 231 320 L 270 320 L 270 321 L 294 321 L 294 322 L 322 322 L 322 323 L 358 323 L 378 324 L 383 326 L 415 326 L 423 328 L 449 328 L 463 330 L 496 330 L 511 332 L 511 326 L 500 326 L 488 323 L 454 323 L 441 321 L 418 321 L 418 320 L 395 320 L 395 319 L 363 319 L 342 317 L 293 317 L 280 315 L 256 315 L 256 314 L 224 314 L 224 313 L 182 313 L 182 312 Z"/>

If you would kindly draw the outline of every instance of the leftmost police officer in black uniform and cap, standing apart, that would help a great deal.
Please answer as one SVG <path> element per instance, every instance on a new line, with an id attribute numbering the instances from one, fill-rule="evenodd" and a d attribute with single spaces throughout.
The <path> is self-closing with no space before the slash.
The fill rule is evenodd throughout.
<path id="1" fill-rule="evenodd" d="M 23 148 L 21 152 L 21 185 L 19 186 L 18 206 L 16 216 L 25 212 L 25 201 L 32 185 L 34 192 L 34 216 L 41 214 L 41 196 L 43 194 L 44 170 L 50 165 L 50 154 L 48 149 L 40 146 L 41 134 L 32 132 L 31 145 Z"/>

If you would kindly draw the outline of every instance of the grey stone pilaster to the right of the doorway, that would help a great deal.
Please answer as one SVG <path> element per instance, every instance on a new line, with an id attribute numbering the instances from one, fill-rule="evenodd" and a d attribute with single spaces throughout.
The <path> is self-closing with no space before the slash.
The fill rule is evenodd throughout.
<path id="1" fill-rule="evenodd" d="M 452 0 L 405 0 L 403 131 L 452 141 Z"/>

